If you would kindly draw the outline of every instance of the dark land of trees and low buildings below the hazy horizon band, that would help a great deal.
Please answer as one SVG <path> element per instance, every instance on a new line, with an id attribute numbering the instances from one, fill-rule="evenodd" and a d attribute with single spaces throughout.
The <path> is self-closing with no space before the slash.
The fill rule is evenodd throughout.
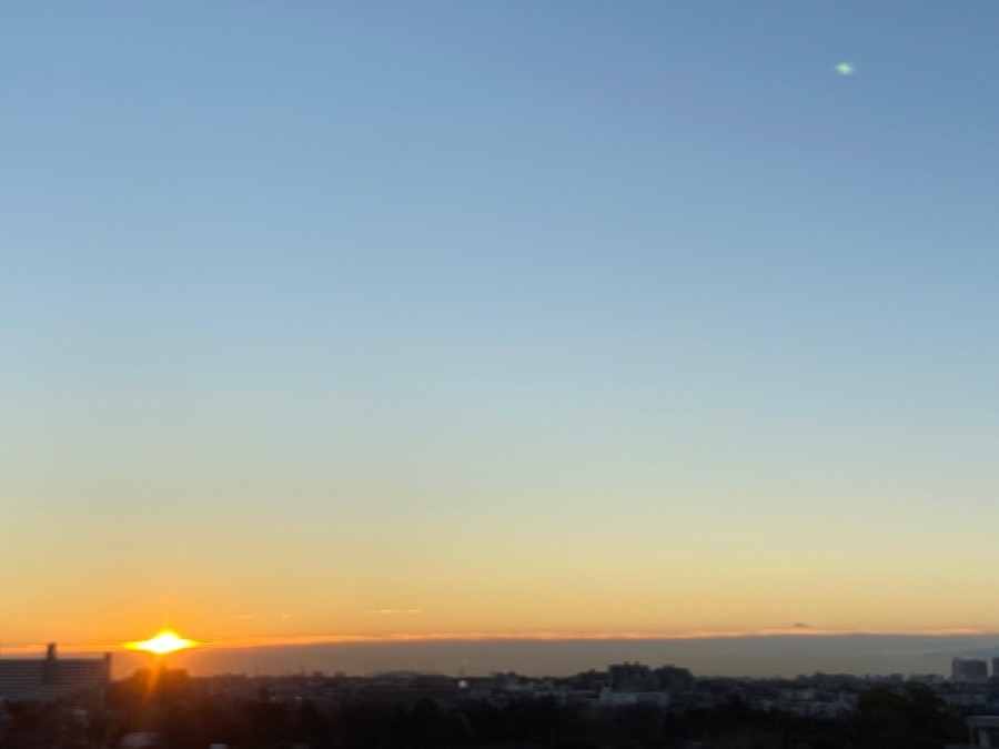
<path id="1" fill-rule="evenodd" d="M 995 715 L 999 684 L 941 677 L 695 678 L 635 662 L 564 678 L 161 668 L 111 684 L 100 707 L 85 691 L 4 700 L 0 747 L 931 749 L 967 746 L 969 727 L 976 745 L 995 746 Z"/>

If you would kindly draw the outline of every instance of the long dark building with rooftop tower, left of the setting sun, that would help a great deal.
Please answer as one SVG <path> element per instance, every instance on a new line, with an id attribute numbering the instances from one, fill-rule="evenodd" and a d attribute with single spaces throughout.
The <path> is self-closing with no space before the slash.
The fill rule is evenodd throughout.
<path id="1" fill-rule="evenodd" d="M 56 644 L 44 658 L 0 659 L 0 699 L 52 702 L 80 696 L 103 702 L 111 681 L 111 654 L 103 658 L 58 658 Z"/>

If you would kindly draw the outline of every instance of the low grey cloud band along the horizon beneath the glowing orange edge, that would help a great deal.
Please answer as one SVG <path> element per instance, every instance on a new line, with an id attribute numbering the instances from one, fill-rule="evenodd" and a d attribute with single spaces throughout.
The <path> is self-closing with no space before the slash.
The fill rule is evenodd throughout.
<path id="1" fill-rule="evenodd" d="M 999 656 L 999 636 L 835 635 L 756 636 L 643 640 L 440 640 L 340 642 L 253 648 L 202 648 L 170 656 L 169 665 L 192 675 L 426 670 L 447 675 L 517 671 L 565 676 L 608 664 L 637 660 L 673 664 L 695 676 L 827 674 L 950 674 L 950 659 Z M 115 676 L 143 664 L 115 654 Z"/>

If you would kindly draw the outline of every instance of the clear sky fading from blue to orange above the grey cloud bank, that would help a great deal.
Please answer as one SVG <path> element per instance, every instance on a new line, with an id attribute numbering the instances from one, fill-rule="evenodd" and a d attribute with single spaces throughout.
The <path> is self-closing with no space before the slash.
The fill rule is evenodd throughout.
<path id="1" fill-rule="evenodd" d="M 4 648 L 999 632 L 999 4 L 2 13 Z"/>

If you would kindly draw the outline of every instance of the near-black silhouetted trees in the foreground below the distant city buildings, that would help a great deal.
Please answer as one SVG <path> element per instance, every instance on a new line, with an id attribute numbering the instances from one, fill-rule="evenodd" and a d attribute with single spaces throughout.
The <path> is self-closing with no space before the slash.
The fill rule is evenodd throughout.
<path id="1" fill-rule="evenodd" d="M 940 749 L 967 740 L 963 720 L 927 687 L 876 687 L 855 716 L 819 719 L 754 710 L 738 699 L 683 713 L 652 706 L 593 709 L 538 699 L 442 708 L 361 699 L 339 704 L 153 699 L 87 725 L 72 711 L 14 706 L 0 746 L 10 749 L 115 747 L 150 731 L 162 749 Z"/>

